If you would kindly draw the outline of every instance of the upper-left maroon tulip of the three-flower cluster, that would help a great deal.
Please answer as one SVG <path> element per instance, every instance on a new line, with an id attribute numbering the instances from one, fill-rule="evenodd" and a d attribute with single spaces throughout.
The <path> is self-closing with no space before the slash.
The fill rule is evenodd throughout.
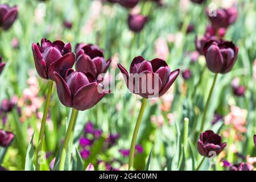
<path id="1" fill-rule="evenodd" d="M 75 53 L 71 52 L 71 44 L 60 40 L 51 42 L 47 39 L 32 44 L 36 71 L 46 80 L 54 80 L 53 72 L 64 76 L 65 72 L 75 64 Z"/>

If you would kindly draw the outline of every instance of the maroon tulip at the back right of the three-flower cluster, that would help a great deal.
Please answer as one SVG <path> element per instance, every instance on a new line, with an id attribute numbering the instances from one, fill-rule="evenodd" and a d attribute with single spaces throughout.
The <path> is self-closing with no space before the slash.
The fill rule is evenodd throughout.
<path id="1" fill-rule="evenodd" d="M 76 71 L 90 72 L 97 78 L 101 73 L 105 73 L 112 61 L 105 60 L 103 51 L 97 46 L 80 43 L 76 46 Z"/>

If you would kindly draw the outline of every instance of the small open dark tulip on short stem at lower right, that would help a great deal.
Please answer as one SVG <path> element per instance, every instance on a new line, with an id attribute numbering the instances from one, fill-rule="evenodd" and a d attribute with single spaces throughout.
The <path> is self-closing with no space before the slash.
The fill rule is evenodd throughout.
<path id="1" fill-rule="evenodd" d="M 226 147 L 226 142 L 221 142 L 222 138 L 220 135 L 215 134 L 212 130 L 207 130 L 204 133 L 200 134 L 200 139 L 197 142 L 197 150 L 199 154 L 205 157 L 211 157 L 213 153 L 216 152 L 216 155 Z"/>

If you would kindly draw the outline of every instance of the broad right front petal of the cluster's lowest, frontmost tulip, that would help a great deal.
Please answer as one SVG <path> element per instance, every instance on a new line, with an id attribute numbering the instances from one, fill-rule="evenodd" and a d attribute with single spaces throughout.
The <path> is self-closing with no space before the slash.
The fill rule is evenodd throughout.
<path id="1" fill-rule="evenodd" d="M 80 88 L 73 97 L 72 105 L 77 110 L 86 110 L 96 105 L 106 92 L 100 93 L 102 85 L 98 83 L 90 83 Z"/>

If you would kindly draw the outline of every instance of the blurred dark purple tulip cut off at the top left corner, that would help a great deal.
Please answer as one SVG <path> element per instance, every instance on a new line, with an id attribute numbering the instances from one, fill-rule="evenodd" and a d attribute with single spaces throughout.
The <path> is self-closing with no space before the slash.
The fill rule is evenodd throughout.
<path id="1" fill-rule="evenodd" d="M 0 5 L 0 27 L 8 30 L 18 16 L 18 7 L 9 5 Z"/>

